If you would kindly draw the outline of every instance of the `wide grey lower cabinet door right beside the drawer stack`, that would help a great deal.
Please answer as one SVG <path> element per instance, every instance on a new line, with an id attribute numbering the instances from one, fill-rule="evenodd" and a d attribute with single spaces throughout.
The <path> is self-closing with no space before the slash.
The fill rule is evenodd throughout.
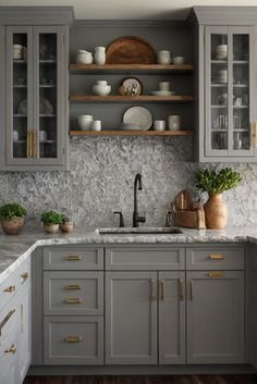
<path id="1" fill-rule="evenodd" d="M 156 272 L 107 272 L 106 363 L 157 363 Z"/>

